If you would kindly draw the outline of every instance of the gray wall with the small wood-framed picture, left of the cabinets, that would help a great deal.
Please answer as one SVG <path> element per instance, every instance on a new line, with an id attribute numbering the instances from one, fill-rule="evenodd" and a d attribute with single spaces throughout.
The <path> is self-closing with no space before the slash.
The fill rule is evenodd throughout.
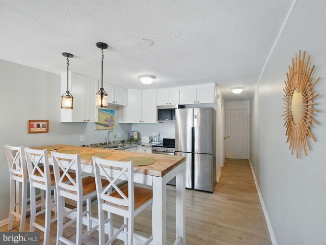
<path id="1" fill-rule="evenodd" d="M 57 74 L 0 60 L 0 221 L 9 216 L 9 170 L 5 144 L 38 146 L 84 145 L 106 141 L 107 130 L 95 131 L 94 123 L 60 122 L 60 83 Z M 127 139 L 131 124 L 119 124 L 115 110 L 115 133 Z M 49 120 L 49 132 L 28 134 L 28 120 Z M 80 135 L 86 141 L 80 142 Z M 118 134 L 117 134 L 118 136 Z M 110 134 L 110 140 L 113 135 Z"/>

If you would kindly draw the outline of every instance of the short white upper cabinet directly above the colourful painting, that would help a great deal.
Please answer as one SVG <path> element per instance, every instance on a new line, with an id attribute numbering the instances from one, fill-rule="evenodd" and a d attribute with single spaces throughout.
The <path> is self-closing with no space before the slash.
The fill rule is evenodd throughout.
<path id="1" fill-rule="evenodd" d="M 112 84 L 103 83 L 103 88 L 108 95 L 108 103 L 115 105 L 128 104 L 128 90 L 114 86 Z"/>

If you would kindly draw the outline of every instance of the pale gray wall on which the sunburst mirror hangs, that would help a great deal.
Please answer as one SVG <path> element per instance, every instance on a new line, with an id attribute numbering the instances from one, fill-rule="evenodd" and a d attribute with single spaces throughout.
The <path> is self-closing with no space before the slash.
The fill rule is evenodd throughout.
<path id="1" fill-rule="evenodd" d="M 251 160 L 278 245 L 326 241 L 326 1 L 298 0 L 251 99 Z M 286 144 L 282 97 L 288 65 L 298 50 L 312 55 L 321 93 L 315 102 L 317 142 L 296 159 Z"/>

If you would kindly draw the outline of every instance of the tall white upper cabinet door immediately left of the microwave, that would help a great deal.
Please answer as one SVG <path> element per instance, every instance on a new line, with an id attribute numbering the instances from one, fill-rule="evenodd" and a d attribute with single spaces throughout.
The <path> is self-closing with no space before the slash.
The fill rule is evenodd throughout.
<path id="1" fill-rule="evenodd" d="M 156 123 L 156 89 L 143 90 L 142 93 L 142 123 Z"/>

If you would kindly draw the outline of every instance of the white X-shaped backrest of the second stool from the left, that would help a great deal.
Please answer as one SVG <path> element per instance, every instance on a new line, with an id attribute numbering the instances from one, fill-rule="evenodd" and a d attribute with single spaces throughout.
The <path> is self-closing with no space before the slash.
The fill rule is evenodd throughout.
<path id="1" fill-rule="evenodd" d="M 50 185 L 50 166 L 47 150 L 25 148 L 25 153 L 30 181 L 45 182 L 46 185 Z M 41 164 L 43 164 L 43 168 L 40 168 Z"/>

